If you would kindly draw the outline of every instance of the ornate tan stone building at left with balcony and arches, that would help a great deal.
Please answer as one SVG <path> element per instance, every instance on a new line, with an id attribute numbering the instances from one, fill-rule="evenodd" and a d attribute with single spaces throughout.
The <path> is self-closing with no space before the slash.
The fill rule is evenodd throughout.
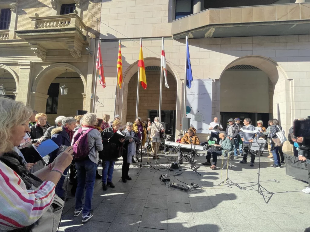
<path id="1" fill-rule="evenodd" d="M 51 123 L 59 114 L 90 112 L 101 0 L 5 0 L 0 11 L 9 15 L 2 17 L 8 24 L 0 23 L 0 85 L 7 96 L 38 112 L 52 113 Z M 57 80 L 69 88 L 67 96 L 50 89 Z M 53 90 L 59 92 L 54 96 L 59 109 L 56 105 L 50 112 L 48 91 Z"/>

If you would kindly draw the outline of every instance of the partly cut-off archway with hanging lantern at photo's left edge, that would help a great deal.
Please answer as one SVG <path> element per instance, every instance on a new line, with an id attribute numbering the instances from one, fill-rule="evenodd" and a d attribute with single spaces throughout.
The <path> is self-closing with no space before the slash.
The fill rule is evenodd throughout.
<path id="1" fill-rule="evenodd" d="M 18 76 L 16 73 L 6 65 L 0 64 L 0 86 L 6 89 L 6 97 L 15 100 L 17 96 Z"/>

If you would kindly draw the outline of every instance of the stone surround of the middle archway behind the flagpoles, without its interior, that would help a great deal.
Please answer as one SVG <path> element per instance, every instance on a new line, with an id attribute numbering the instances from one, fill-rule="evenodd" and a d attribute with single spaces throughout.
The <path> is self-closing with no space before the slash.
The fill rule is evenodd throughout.
<path id="1" fill-rule="evenodd" d="M 144 65 L 145 67 L 148 67 L 148 66 L 159 66 L 160 67 L 161 66 L 160 61 L 161 61 L 160 58 L 155 58 L 155 57 L 144 58 Z M 166 65 L 167 65 L 167 71 L 169 71 L 174 76 L 175 81 L 177 83 L 177 89 L 175 90 L 177 92 L 176 125 L 179 125 L 181 121 L 181 115 L 179 112 L 181 112 L 181 100 L 182 99 L 181 99 L 181 92 L 178 91 L 178 89 L 180 88 L 179 85 L 182 86 L 182 81 L 179 78 L 178 72 L 175 70 L 175 68 L 169 61 L 166 61 Z M 117 105 L 116 105 L 116 113 L 121 115 L 122 117 L 121 120 L 123 122 L 125 122 L 126 114 L 127 114 L 128 83 L 137 71 L 138 71 L 138 61 L 132 63 L 129 67 L 127 67 L 126 71 L 123 74 L 123 80 L 124 80 L 123 90 L 120 91 L 118 89 L 118 92 L 117 92 L 118 100 L 117 100 Z M 176 133 L 178 133 L 177 128 L 176 128 Z"/>

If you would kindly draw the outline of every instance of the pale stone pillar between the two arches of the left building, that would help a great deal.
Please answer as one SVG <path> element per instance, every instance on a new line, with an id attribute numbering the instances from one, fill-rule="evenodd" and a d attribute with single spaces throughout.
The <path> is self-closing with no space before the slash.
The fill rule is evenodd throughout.
<path id="1" fill-rule="evenodd" d="M 29 103 L 29 92 L 31 89 L 30 79 L 31 79 L 31 61 L 20 61 L 18 62 L 19 67 L 19 82 L 18 82 L 18 95 L 16 101 L 22 101 L 25 104 Z"/>

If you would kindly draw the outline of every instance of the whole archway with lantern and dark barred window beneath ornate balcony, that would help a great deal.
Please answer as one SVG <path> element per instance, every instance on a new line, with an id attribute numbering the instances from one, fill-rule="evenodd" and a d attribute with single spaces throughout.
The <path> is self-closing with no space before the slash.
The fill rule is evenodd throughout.
<path id="1" fill-rule="evenodd" d="M 67 95 L 60 87 L 66 85 Z M 53 123 L 59 115 L 74 116 L 76 110 L 85 109 L 86 79 L 83 73 L 68 63 L 55 63 L 43 69 L 32 87 L 31 105 L 38 112 L 45 112 Z"/>

